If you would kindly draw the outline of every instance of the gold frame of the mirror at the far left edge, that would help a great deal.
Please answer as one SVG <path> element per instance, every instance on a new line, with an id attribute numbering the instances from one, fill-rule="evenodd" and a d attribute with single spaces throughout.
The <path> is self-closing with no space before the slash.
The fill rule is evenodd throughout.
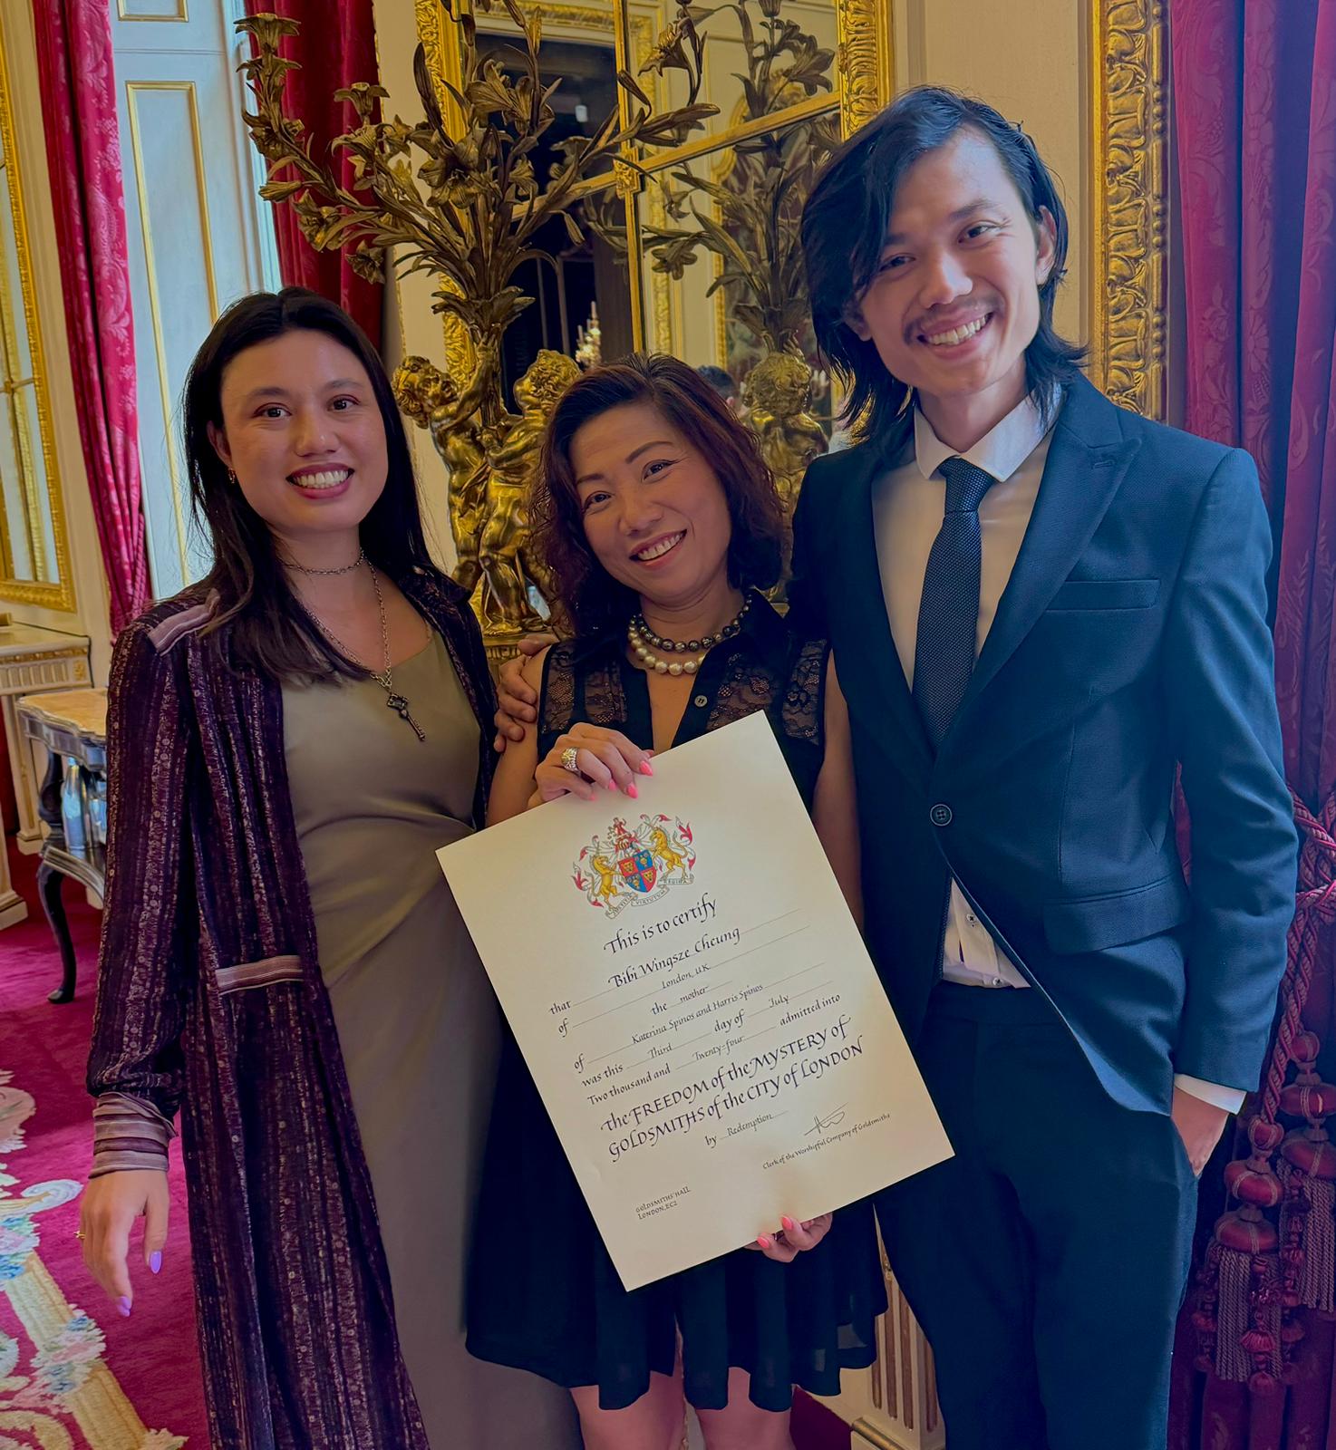
<path id="1" fill-rule="evenodd" d="M 12 302 L 16 302 L 17 306 L 22 307 L 23 323 L 28 331 L 28 351 L 32 360 L 32 377 L 23 378 L 22 381 L 25 384 L 30 381 L 33 399 L 36 402 L 38 445 L 41 448 L 42 467 L 46 480 L 45 500 L 39 500 L 35 496 L 36 484 L 30 470 L 30 463 L 35 454 L 32 439 L 26 436 L 26 418 L 22 416 L 22 406 L 19 406 L 13 397 L 6 399 L 6 403 L 13 405 L 13 413 L 16 418 L 16 448 L 19 450 L 20 457 L 25 452 L 29 454 L 29 467 L 25 470 L 23 478 L 23 489 L 28 497 L 29 509 L 38 510 L 35 516 L 39 518 L 46 518 L 49 515 L 51 539 L 55 554 L 55 579 L 41 581 L 0 577 L 0 599 L 73 613 L 75 608 L 74 577 L 70 564 L 70 544 L 65 531 L 65 508 L 64 494 L 61 492 L 59 464 L 55 455 L 55 432 L 51 419 L 51 400 L 46 393 L 46 357 L 42 348 L 42 325 L 36 309 L 36 289 L 33 286 L 32 276 L 32 246 L 29 242 L 23 177 L 20 175 L 22 168 L 19 165 L 17 133 L 15 129 L 13 107 L 10 104 L 12 93 L 9 57 L 6 51 L 7 46 L 4 44 L 4 35 L 3 30 L 0 30 L 0 165 L 3 165 L 9 181 L 9 204 L 15 228 L 15 246 L 17 251 L 16 264 L 20 291 L 20 297 L 12 299 Z M 15 339 L 10 335 L 12 329 L 13 318 L 6 316 L 4 347 L 9 357 L 16 355 Z M 19 380 L 12 378 L 10 381 L 17 383 Z M 35 548 L 38 544 L 39 541 L 33 541 Z M 9 545 L 3 503 L 0 503 L 0 548 L 3 548 L 3 558 L 9 560 L 13 557 Z M 0 570 L 0 573 L 3 573 L 3 570 Z M 33 573 L 36 573 L 36 568 Z"/>

